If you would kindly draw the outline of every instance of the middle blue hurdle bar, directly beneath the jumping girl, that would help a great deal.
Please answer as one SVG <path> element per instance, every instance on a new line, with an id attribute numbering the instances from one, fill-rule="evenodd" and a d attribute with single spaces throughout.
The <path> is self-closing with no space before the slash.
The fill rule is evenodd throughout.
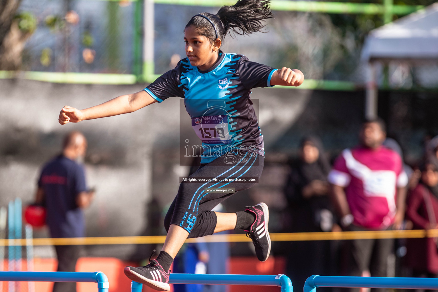
<path id="1" fill-rule="evenodd" d="M 279 275 L 170 274 L 169 284 L 265 285 L 280 286 L 281 292 L 293 292 L 292 281 Z M 141 292 L 143 285 L 131 282 L 131 292 Z"/>

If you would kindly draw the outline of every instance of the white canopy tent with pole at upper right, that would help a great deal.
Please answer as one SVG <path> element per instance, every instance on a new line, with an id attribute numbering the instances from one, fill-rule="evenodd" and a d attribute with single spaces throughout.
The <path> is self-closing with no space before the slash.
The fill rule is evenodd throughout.
<path id="1" fill-rule="evenodd" d="M 361 59 L 367 63 L 365 115 L 377 116 L 376 63 L 438 62 L 438 2 L 370 32 Z"/>

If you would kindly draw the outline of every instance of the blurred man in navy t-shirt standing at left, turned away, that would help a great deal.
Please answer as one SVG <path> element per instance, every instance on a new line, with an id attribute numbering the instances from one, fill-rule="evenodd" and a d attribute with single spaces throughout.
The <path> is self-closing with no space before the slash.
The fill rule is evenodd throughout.
<path id="1" fill-rule="evenodd" d="M 85 173 L 76 160 L 85 155 L 87 140 L 80 132 L 71 132 L 64 139 L 62 154 L 48 162 L 41 171 L 36 202 L 46 206 L 46 223 L 53 238 L 84 237 L 85 221 L 82 208 L 92 200 L 87 191 Z M 80 247 L 55 246 L 57 271 L 74 271 Z M 55 283 L 53 292 L 76 292 L 76 283 Z"/>

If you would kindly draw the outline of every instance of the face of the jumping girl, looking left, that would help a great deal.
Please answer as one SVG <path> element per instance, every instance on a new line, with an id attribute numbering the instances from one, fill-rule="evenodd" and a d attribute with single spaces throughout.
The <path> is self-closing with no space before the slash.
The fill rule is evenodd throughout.
<path id="1" fill-rule="evenodd" d="M 216 46 L 219 41 L 219 46 Z M 193 26 L 184 30 L 184 42 L 186 43 L 186 55 L 192 66 L 199 67 L 199 70 L 207 70 L 217 60 L 220 40 L 214 44 L 204 35 L 199 35 Z"/>

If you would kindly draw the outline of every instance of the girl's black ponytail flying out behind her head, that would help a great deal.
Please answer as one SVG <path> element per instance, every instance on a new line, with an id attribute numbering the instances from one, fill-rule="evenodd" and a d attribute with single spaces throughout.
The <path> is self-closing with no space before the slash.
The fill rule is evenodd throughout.
<path id="1" fill-rule="evenodd" d="M 232 30 L 239 35 L 260 32 L 262 21 L 272 18 L 268 1 L 239 0 L 233 6 L 223 6 L 216 14 L 224 26 L 224 36 Z"/>

